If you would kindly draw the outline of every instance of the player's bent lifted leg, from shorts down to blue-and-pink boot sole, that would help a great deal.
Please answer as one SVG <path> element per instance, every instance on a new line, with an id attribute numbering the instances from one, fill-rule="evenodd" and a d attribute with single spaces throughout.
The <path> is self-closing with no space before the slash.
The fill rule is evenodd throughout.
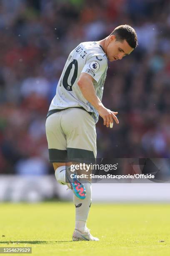
<path id="1" fill-rule="evenodd" d="M 71 179 L 68 175 L 68 166 L 70 166 L 71 162 L 68 162 L 67 159 L 66 136 L 60 125 L 62 112 L 65 112 L 65 110 L 53 113 L 46 120 L 45 128 L 49 148 L 49 159 L 50 162 L 53 163 L 57 182 L 62 185 L 67 184 L 77 197 L 84 199 L 86 194 L 84 186 L 80 184 L 76 178 Z M 66 177 L 68 177 L 67 181 Z"/>

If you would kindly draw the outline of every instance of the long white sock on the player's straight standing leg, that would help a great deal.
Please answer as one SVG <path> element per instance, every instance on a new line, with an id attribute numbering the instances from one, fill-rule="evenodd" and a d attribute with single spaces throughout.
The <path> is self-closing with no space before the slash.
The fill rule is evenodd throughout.
<path id="1" fill-rule="evenodd" d="M 84 232 L 86 230 L 86 222 L 92 202 L 92 185 L 91 182 L 87 180 L 85 183 L 83 183 L 83 181 L 80 182 L 85 187 L 86 197 L 85 199 L 80 199 L 75 195 L 73 196 L 73 202 L 75 204 L 75 228 Z"/>

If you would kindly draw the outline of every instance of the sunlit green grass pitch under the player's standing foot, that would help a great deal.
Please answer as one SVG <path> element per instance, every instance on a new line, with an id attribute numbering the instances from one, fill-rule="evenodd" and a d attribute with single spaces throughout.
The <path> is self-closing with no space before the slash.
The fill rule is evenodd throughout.
<path id="1" fill-rule="evenodd" d="M 71 202 L 2 203 L 0 247 L 28 246 L 40 256 L 170 255 L 169 204 L 93 203 L 87 227 L 96 242 L 71 241 L 74 213 Z"/>

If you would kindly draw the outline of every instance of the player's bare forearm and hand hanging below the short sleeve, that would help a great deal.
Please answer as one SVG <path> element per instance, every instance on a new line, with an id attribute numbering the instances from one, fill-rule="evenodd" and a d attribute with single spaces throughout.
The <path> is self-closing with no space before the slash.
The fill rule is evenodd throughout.
<path id="1" fill-rule="evenodd" d="M 93 78 L 89 74 L 82 73 L 80 75 L 80 79 L 78 80 L 77 84 L 80 87 L 82 95 L 95 107 L 99 115 L 103 118 L 104 125 L 109 127 L 110 123 L 113 123 L 113 120 L 115 120 L 115 122 L 118 124 L 119 121 L 116 117 L 117 112 L 113 112 L 104 107 L 99 97 L 96 95 L 92 81 Z"/>

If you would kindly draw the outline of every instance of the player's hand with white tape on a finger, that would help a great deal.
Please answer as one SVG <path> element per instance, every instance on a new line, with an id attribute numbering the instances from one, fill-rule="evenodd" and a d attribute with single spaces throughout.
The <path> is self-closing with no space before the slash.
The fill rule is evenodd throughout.
<path id="1" fill-rule="evenodd" d="M 107 127 L 109 127 L 110 123 L 112 124 L 113 121 L 115 121 L 117 124 L 119 123 L 116 117 L 118 112 L 113 112 L 110 109 L 105 108 L 104 106 L 100 106 L 100 108 L 97 109 L 97 111 L 104 121 L 103 124 L 106 125 Z"/>

